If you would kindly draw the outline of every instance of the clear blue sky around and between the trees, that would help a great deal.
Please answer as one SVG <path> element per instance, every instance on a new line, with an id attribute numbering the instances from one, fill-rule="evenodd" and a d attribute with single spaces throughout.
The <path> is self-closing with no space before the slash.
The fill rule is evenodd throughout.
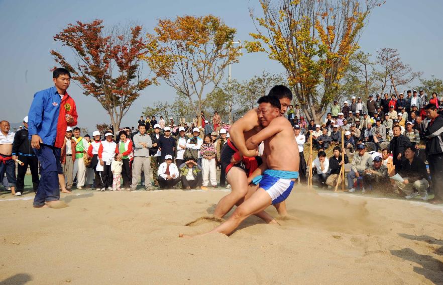
<path id="1" fill-rule="evenodd" d="M 93 19 L 104 20 L 105 25 L 135 21 L 152 31 L 159 18 L 176 15 L 206 15 L 221 17 L 229 26 L 237 28 L 238 38 L 250 40 L 254 31 L 249 17 L 249 7 L 257 6 L 257 0 L 218 1 L 2 1 L 0 0 L 0 120 L 19 123 L 26 116 L 33 94 L 52 85 L 49 68 L 55 62 L 49 51 L 63 50 L 53 36 L 67 24 Z M 441 47 L 441 0 L 386 0 L 386 4 L 374 10 L 369 25 L 362 35 L 360 46 L 365 52 L 397 48 L 404 63 L 414 71 L 423 71 L 424 77 L 435 75 L 443 78 Z M 263 70 L 281 73 L 278 62 L 268 59 L 264 53 L 247 54 L 232 69 L 233 78 L 244 80 Z M 84 96 L 73 83 L 68 89 L 75 99 L 79 113 L 79 126 L 89 131 L 96 123 L 108 122 L 104 109 L 91 97 Z M 157 100 L 172 101 L 175 91 L 162 83 L 149 86 L 136 101 L 124 126 L 135 126 L 144 106 Z"/>

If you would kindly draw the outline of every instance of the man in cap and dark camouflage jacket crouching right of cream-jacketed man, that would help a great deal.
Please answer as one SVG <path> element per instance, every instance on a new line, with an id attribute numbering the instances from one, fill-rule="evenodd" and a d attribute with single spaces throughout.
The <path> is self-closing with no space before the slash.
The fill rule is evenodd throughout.
<path id="1" fill-rule="evenodd" d="M 383 188 L 388 185 L 388 168 L 383 165 L 383 158 L 376 156 L 373 164 L 363 172 L 363 191 L 365 194 L 369 188 Z"/>

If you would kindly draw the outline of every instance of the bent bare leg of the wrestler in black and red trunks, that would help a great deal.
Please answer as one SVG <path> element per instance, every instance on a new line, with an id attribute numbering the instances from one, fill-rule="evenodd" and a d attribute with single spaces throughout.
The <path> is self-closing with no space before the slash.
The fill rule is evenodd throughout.
<path id="1" fill-rule="evenodd" d="M 223 218 L 248 193 L 248 177 L 241 168 L 232 167 L 227 180 L 231 184 L 231 193 L 218 202 L 214 210 L 214 216 L 217 218 Z"/>

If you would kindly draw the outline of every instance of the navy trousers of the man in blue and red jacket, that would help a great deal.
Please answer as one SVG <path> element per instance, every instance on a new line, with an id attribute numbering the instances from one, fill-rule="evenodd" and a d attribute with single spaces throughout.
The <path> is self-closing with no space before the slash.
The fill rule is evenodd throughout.
<path id="1" fill-rule="evenodd" d="M 34 198 L 34 206 L 43 206 L 45 202 L 60 200 L 58 174 L 63 174 L 60 163 L 61 149 L 40 144 L 40 149 L 34 149 L 40 161 L 40 184 Z"/>

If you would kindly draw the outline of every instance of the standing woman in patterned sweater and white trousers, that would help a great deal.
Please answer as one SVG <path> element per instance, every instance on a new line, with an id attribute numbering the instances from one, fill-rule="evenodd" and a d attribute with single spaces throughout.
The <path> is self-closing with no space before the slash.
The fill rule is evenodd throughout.
<path id="1" fill-rule="evenodd" d="M 211 142 L 211 138 L 209 135 L 206 135 L 203 140 L 203 144 L 200 148 L 200 156 L 201 156 L 201 168 L 203 171 L 203 185 L 202 189 L 206 190 L 207 185 L 210 183 L 216 188 L 217 187 L 217 170 L 215 168 L 215 146 Z"/>

